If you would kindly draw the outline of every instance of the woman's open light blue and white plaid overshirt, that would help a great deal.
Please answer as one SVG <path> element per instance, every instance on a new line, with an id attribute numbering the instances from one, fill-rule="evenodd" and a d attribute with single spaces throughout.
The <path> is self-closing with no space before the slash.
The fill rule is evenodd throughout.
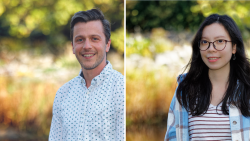
<path id="1" fill-rule="evenodd" d="M 182 81 L 184 76 L 180 75 L 179 80 Z M 244 117 L 237 107 L 231 105 L 229 120 L 232 141 L 249 141 L 250 117 Z M 189 141 L 188 112 L 178 102 L 176 92 L 169 108 L 165 141 Z"/>

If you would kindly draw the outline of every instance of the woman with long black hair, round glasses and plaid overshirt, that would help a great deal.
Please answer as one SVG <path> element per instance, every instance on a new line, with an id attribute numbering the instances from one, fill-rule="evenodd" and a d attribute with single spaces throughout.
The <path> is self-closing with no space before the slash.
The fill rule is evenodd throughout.
<path id="1" fill-rule="evenodd" d="M 250 64 L 241 33 L 213 14 L 192 42 L 187 74 L 178 77 L 165 141 L 250 139 Z"/>

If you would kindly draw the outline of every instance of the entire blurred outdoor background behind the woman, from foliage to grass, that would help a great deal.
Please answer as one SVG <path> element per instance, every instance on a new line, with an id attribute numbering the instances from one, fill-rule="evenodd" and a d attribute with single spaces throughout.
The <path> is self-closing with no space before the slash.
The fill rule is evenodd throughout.
<path id="1" fill-rule="evenodd" d="M 176 77 L 191 57 L 191 42 L 212 13 L 227 14 L 241 30 L 249 57 L 249 1 L 126 2 L 127 141 L 161 141 Z"/>

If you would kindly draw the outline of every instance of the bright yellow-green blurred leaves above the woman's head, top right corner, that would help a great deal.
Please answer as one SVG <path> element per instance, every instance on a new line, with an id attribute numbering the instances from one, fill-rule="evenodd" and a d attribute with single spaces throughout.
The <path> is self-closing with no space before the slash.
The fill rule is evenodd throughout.
<path id="1" fill-rule="evenodd" d="M 249 1 L 197 1 L 196 5 L 193 5 L 190 10 L 192 13 L 202 13 L 205 17 L 218 13 L 220 15 L 228 15 L 234 19 L 238 27 L 240 28 L 244 40 L 250 37 L 250 8 Z"/>

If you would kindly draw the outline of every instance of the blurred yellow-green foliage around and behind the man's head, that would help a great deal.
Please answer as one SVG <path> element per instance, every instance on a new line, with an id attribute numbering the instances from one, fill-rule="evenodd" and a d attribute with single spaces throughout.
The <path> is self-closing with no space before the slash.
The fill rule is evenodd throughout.
<path id="1" fill-rule="evenodd" d="M 57 56 L 69 42 L 71 17 L 91 8 L 102 10 L 111 23 L 112 34 L 123 34 L 119 30 L 123 28 L 123 7 L 123 0 L 0 0 L 0 51 L 28 49 Z M 116 38 L 123 41 L 123 36 Z M 119 52 L 123 47 L 121 43 L 112 44 Z"/>

